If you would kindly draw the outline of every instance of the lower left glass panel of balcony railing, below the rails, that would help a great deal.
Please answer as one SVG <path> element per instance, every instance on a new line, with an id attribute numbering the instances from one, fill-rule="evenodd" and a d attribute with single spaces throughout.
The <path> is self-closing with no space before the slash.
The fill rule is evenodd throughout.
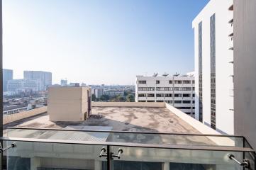
<path id="1" fill-rule="evenodd" d="M 8 141 L 6 145 L 11 143 L 13 141 Z M 106 157 L 99 157 L 101 148 L 105 146 L 45 142 L 16 144 L 5 152 L 7 169 L 10 170 L 102 169 L 106 162 Z"/>

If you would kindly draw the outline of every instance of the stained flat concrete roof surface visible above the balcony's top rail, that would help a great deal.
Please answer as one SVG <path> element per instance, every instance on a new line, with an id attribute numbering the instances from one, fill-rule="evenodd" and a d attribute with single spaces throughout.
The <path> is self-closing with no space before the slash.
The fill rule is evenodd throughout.
<path id="1" fill-rule="evenodd" d="M 92 107 L 91 117 L 80 122 L 52 122 L 44 113 L 5 127 L 66 128 L 69 125 L 110 126 L 112 130 L 123 131 L 199 133 L 167 108 Z"/>

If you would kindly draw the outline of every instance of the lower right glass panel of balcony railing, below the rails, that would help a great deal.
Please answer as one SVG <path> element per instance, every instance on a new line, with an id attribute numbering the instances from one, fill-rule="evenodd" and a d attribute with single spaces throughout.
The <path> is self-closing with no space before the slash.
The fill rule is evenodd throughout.
<path id="1" fill-rule="evenodd" d="M 120 147 L 112 147 L 118 154 Z M 243 160 L 243 152 L 199 151 L 184 149 L 154 149 L 121 147 L 121 158 L 113 159 L 113 170 L 234 170 L 242 166 L 228 159 L 228 154 Z"/>

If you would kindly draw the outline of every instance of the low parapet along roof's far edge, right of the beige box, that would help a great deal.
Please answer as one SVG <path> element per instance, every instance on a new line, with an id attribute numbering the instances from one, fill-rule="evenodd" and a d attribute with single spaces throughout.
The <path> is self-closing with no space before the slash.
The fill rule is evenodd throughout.
<path id="1" fill-rule="evenodd" d="M 147 102 L 92 102 L 92 107 L 139 107 L 139 108 L 164 108 L 165 103 L 147 103 Z"/>

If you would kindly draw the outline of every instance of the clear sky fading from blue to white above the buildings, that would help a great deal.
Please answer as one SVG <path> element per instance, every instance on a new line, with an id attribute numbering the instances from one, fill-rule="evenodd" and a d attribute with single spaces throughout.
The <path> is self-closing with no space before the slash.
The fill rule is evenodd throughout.
<path id="1" fill-rule="evenodd" d="M 85 84 L 194 71 L 191 22 L 208 0 L 3 0 L 4 68 Z"/>

